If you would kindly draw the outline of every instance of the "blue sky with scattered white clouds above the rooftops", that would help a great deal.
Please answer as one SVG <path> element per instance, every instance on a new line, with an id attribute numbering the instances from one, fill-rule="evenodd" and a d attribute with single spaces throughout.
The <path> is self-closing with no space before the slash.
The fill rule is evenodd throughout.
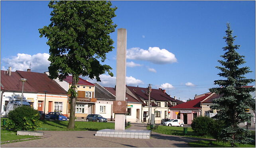
<path id="1" fill-rule="evenodd" d="M 255 79 L 255 1 L 111 2 L 118 7 L 116 30 L 127 29 L 128 86 L 152 84 L 181 100 L 209 92 L 214 80 L 223 79 L 215 66 L 224 54 L 227 22 L 241 46 L 238 53 L 245 56 L 242 66 L 253 71 L 246 77 Z M 49 47 L 38 29 L 50 23 L 48 3 L 1 1 L 1 70 L 26 70 L 31 64 L 34 72 L 47 71 Z M 111 38 L 116 47 L 117 32 Z M 114 77 L 102 75 L 100 84 L 114 87 L 116 49 L 104 64 L 113 68 Z"/>

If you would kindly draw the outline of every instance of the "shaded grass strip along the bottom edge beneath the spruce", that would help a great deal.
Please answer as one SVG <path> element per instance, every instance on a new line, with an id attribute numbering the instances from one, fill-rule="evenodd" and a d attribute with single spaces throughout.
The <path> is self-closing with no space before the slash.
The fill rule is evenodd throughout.
<path id="1" fill-rule="evenodd" d="M 189 146 L 197 148 L 227 148 L 230 144 L 227 142 L 217 142 L 217 141 L 196 141 L 189 142 Z M 237 144 L 239 148 L 255 148 L 255 142 L 250 144 Z"/>

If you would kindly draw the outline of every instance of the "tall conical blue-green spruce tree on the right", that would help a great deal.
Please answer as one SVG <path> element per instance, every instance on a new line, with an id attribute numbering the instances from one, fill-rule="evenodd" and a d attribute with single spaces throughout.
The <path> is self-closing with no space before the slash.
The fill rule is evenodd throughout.
<path id="1" fill-rule="evenodd" d="M 231 146 L 235 143 L 250 142 L 249 130 L 238 127 L 240 123 L 250 123 L 251 115 L 246 113 L 247 109 L 252 106 L 252 96 L 250 92 L 255 91 L 253 87 L 244 87 L 254 82 L 253 79 L 246 79 L 245 74 L 252 72 L 250 68 L 245 66 L 239 68 L 245 63 L 244 56 L 239 55 L 236 50 L 239 45 L 234 44 L 234 38 L 230 24 L 227 23 L 226 36 L 223 37 L 226 41 L 226 46 L 223 47 L 224 55 L 221 55 L 224 60 L 218 60 L 223 66 L 216 66 L 221 72 L 218 74 L 224 77 L 225 80 L 215 80 L 214 84 L 221 87 L 209 89 L 211 92 L 223 94 L 222 97 L 213 101 L 212 109 L 218 111 L 215 115 L 216 119 L 224 121 L 224 128 L 221 131 L 222 140 L 229 141 Z"/>

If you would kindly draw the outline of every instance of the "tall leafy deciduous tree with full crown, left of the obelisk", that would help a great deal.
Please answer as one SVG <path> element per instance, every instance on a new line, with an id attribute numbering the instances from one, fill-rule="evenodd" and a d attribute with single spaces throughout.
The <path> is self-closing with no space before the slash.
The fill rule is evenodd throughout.
<path id="1" fill-rule="evenodd" d="M 73 76 L 68 94 L 70 117 L 68 129 L 75 125 L 76 83 L 79 76 L 88 76 L 100 81 L 100 74 L 108 72 L 113 76 L 110 66 L 101 64 L 106 53 L 114 48 L 110 33 L 116 7 L 109 1 L 51 1 L 51 23 L 39 30 L 40 37 L 47 37 L 49 45 L 49 78 L 63 80 Z M 100 60 L 100 61 L 99 61 Z"/>

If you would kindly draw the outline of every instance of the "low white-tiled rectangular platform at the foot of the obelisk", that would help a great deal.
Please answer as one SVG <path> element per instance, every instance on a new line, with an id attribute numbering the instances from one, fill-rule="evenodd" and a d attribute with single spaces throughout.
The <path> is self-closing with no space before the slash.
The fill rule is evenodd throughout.
<path id="1" fill-rule="evenodd" d="M 103 137 L 117 137 L 117 138 L 137 138 L 137 139 L 149 139 L 151 130 L 114 130 L 114 129 L 102 129 L 98 130 L 95 136 Z"/>

